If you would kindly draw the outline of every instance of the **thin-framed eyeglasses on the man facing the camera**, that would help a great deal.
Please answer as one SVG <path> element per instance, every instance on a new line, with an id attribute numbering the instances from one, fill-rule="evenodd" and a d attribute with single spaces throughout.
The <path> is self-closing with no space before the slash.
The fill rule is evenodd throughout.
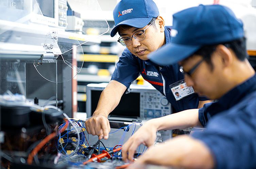
<path id="1" fill-rule="evenodd" d="M 153 22 L 155 22 L 155 20 L 154 20 Z M 153 23 L 153 22 L 152 22 L 152 23 Z M 152 23 L 151 23 L 151 24 L 152 24 Z M 150 26 L 151 24 L 149 24 L 149 26 Z M 123 37 L 123 38 L 120 37 L 120 38 L 117 40 L 117 42 L 119 42 L 119 43 L 122 44 L 123 46 L 129 46 L 129 45 L 131 45 L 132 38 L 134 38 L 134 39 L 137 40 L 137 41 L 142 41 L 143 39 L 146 38 L 145 30 L 146 30 L 149 26 L 147 26 L 147 27 L 146 27 L 145 29 L 143 29 L 143 30 L 139 30 L 139 31 L 133 33 L 133 35 L 132 35 L 130 38 L 129 38 L 129 37 Z"/>

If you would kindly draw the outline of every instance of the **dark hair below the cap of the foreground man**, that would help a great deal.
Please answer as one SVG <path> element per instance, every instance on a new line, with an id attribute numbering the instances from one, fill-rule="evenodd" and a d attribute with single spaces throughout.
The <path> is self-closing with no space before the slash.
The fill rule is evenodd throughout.
<path id="1" fill-rule="evenodd" d="M 230 42 L 203 46 L 199 50 L 194 52 L 192 55 L 203 56 L 206 63 L 208 63 L 210 68 L 213 69 L 213 65 L 211 63 L 211 54 L 216 50 L 216 47 L 220 44 L 226 46 L 227 48 L 232 49 L 234 51 L 234 53 L 236 54 L 236 57 L 240 61 L 244 61 L 245 59 L 248 59 L 248 57 L 249 57 L 249 55 L 247 54 L 247 50 L 246 50 L 246 38 L 245 37 L 236 39 L 236 40 L 233 40 Z"/>

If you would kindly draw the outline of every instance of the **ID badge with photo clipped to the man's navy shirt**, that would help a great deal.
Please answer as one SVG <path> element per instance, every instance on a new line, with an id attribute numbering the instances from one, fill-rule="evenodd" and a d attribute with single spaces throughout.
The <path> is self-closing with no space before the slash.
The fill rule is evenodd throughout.
<path id="1" fill-rule="evenodd" d="M 187 86 L 185 79 L 172 83 L 169 87 L 176 101 L 195 93 L 192 86 L 191 87 Z"/>

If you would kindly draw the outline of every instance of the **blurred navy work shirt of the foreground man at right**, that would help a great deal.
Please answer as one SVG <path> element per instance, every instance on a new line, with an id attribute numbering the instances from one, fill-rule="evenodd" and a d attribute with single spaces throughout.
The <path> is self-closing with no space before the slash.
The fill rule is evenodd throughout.
<path id="1" fill-rule="evenodd" d="M 207 129 L 192 137 L 210 148 L 216 168 L 256 168 L 255 84 L 256 75 L 199 109 L 199 120 Z"/>

